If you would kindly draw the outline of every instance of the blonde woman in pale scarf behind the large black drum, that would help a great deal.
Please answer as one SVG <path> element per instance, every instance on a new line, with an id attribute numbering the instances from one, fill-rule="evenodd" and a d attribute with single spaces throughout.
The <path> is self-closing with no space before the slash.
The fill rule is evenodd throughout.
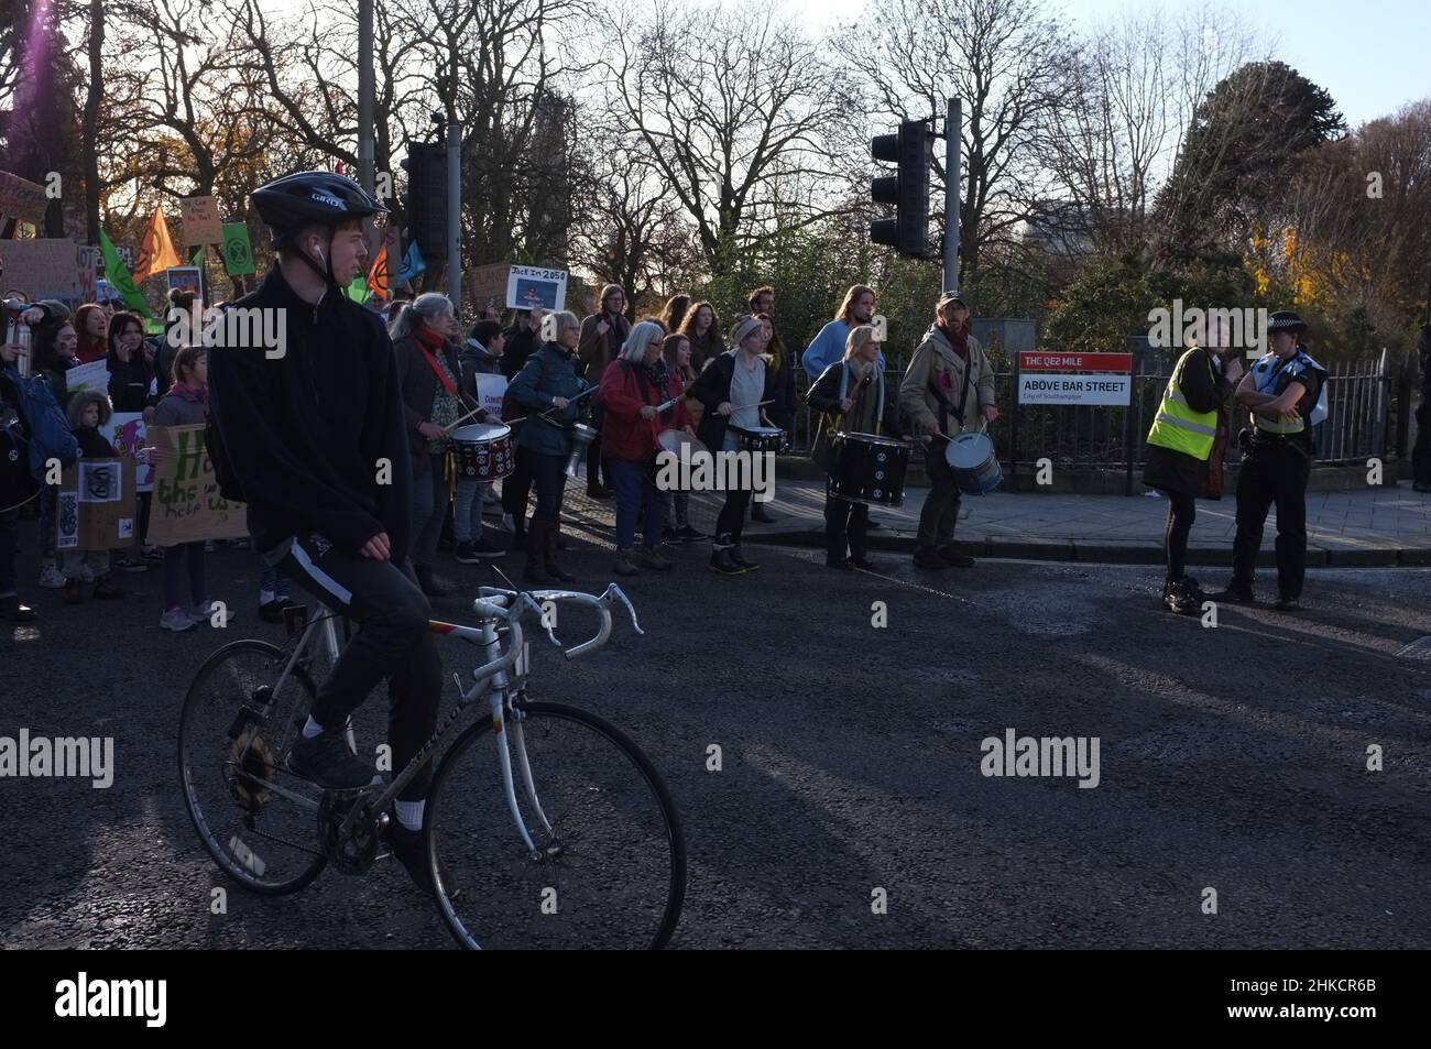
<path id="1" fill-rule="evenodd" d="M 884 386 L 884 372 L 879 366 L 880 343 L 874 328 L 859 325 L 844 342 L 844 359 L 821 372 L 806 394 L 810 411 L 820 412 L 810 458 L 831 479 L 839 462 L 831 447 L 839 432 L 874 434 L 903 438 L 899 411 L 890 402 Z M 866 557 L 864 537 L 869 531 L 870 508 L 863 502 L 841 499 L 833 491 L 824 495 L 826 565 L 830 568 L 873 568 Z"/>

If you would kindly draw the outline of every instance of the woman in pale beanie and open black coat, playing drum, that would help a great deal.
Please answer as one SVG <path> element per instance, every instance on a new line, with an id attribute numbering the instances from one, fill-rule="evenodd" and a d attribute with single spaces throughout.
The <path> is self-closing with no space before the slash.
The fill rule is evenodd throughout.
<path id="1" fill-rule="evenodd" d="M 700 401 L 705 414 L 697 436 L 713 452 L 740 451 L 740 429 L 761 425 L 760 404 L 776 396 L 774 375 L 760 356 L 766 351 L 766 323 L 743 313 L 731 329 L 736 349 L 711 358 L 688 394 Z M 744 575 L 760 568 L 740 552 L 740 535 L 746 522 L 748 489 L 726 492 L 726 505 L 716 521 L 711 541 L 711 571 L 720 575 Z"/>

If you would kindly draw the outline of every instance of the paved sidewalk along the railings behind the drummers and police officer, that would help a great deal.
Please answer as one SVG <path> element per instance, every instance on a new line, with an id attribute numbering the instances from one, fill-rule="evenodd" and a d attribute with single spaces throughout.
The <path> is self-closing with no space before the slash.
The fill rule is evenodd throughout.
<path id="1" fill-rule="evenodd" d="M 574 499 L 572 488 L 567 505 L 574 517 L 610 528 L 611 504 L 591 502 L 585 492 Z M 870 534 L 870 547 L 913 551 L 926 494 L 912 488 L 897 509 L 871 509 L 883 527 Z M 718 507 L 714 497 L 693 497 L 695 527 L 711 531 Z M 747 524 L 748 541 L 823 544 L 823 484 L 777 479 L 776 498 L 767 507 L 778 519 L 773 525 Z M 1166 518 L 1168 501 L 1161 497 L 995 492 L 964 497 L 954 540 L 975 557 L 1161 564 Z M 1188 560 L 1229 565 L 1235 534 L 1236 499 L 1231 494 L 1221 501 L 1199 499 Z M 1431 565 L 1431 495 L 1414 492 L 1410 482 L 1358 492 L 1308 492 L 1307 534 L 1311 567 Z M 1266 564 L 1272 564 L 1275 540 L 1274 511 L 1262 534 L 1261 560 Z"/>

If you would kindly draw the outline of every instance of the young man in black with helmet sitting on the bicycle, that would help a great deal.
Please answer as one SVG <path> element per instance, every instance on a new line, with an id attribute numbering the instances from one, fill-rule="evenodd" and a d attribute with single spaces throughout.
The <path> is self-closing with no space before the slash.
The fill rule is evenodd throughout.
<path id="1" fill-rule="evenodd" d="M 348 748 L 343 727 L 378 683 L 388 681 L 395 769 L 432 736 L 442 688 L 428 598 L 408 562 L 411 465 L 392 343 L 378 315 L 345 295 L 368 269 L 365 228 L 388 209 L 331 172 L 278 179 L 252 200 L 278 260 L 232 305 L 280 312 L 285 339 L 210 349 L 210 457 L 223 494 L 248 504 L 263 560 L 356 625 L 288 760 L 326 790 L 352 790 L 373 767 Z M 429 781 L 431 764 L 399 794 L 389 846 L 431 893 Z"/>

